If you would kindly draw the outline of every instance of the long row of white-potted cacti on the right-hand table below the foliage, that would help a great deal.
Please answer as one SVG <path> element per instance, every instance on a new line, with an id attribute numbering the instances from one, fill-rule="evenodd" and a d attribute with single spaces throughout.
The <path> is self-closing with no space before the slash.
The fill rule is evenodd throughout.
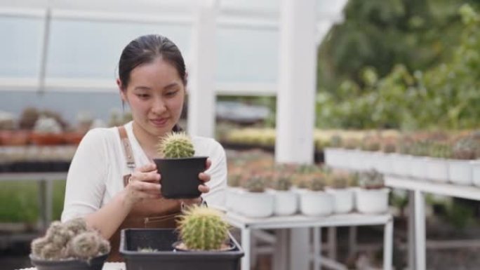
<path id="1" fill-rule="evenodd" d="M 369 170 L 433 182 L 480 187 L 480 133 L 460 137 L 366 137 L 362 141 L 336 138 L 324 151 L 329 166 Z"/>

